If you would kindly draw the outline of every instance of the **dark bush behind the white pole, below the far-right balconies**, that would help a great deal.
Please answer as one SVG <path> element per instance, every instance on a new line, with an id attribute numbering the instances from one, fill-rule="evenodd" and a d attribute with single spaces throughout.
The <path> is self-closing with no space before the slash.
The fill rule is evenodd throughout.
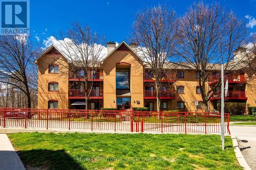
<path id="1" fill-rule="evenodd" d="M 224 112 L 230 115 L 243 115 L 245 113 L 246 103 L 226 102 Z M 221 105 L 218 103 L 218 110 L 221 112 Z"/>

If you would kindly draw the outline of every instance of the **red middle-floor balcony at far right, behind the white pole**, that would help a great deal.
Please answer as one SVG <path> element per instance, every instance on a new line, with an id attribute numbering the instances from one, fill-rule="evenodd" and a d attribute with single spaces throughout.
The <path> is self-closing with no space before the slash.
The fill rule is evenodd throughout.
<path id="1" fill-rule="evenodd" d="M 216 91 L 210 100 L 221 99 L 221 91 Z M 246 100 L 246 91 L 228 91 L 225 100 Z"/>

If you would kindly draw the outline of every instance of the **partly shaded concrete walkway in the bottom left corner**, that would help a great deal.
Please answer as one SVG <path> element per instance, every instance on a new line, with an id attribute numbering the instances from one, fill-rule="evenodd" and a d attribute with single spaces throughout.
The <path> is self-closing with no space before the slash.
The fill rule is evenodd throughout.
<path id="1" fill-rule="evenodd" d="M 6 134 L 0 134 L 0 169 L 26 170 Z"/>

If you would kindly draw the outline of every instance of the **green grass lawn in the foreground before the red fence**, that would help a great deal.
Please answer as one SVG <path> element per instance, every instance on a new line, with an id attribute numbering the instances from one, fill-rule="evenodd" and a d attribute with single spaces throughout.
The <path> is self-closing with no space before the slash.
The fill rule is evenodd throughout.
<path id="1" fill-rule="evenodd" d="M 34 169 L 242 169 L 230 137 L 185 134 L 8 134 Z"/>

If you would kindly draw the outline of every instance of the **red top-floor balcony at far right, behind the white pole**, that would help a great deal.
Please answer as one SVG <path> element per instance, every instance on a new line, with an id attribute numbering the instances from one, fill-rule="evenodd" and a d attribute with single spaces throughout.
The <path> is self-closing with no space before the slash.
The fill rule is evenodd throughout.
<path id="1" fill-rule="evenodd" d="M 216 84 L 221 79 L 221 75 L 212 75 L 209 77 L 209 85 Z M 224 82 L 228 80 L 228 83 L 245 83 L 244 75 L 227 75 L 224 77 Z"/>

